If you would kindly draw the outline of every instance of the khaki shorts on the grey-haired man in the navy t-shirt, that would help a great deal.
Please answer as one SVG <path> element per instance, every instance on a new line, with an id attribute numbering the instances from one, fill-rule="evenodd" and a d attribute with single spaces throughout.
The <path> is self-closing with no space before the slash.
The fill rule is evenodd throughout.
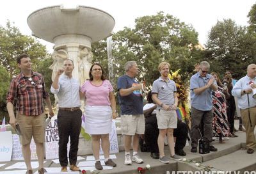
<path id="1" fill-rule="evenodd" d="M 121 130 L 123 135 L 134 136 L 144 134 L 144 115 L 121 115 Z"/>

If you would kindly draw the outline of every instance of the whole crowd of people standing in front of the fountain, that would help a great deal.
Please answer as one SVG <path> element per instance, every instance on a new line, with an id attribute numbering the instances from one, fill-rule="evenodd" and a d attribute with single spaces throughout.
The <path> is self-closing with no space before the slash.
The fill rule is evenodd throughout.
<path id="1" fill-rule="evenodd" d="M 28 174 L 31 168 L 30 143 L 33 136 L 38 156 L 38 173 L 46 173 L 44 168 L 45 141 L 45 113 L 43 100 L 49 108 L 49 116 L 54 116 L 49 99 L 45 91 L 44 77 L 32 70 L 31 59 L 27 55 L 20 55 L 17 64 L 21 72 L 12 79 L 7 95 L 7 109 L 12 127 L 20 127 L 20 144 L 27 166 Z M 191 152 L 197 152 L 200 130 L 210 143 L 209 150 L 217 151 L 212 145 L 212 137 L 218 136 L 220 143 L 223 137 L 236 137 L 234 132 L 234 111 L 237 97 L 238 107 L 246 131 L 246 146 L 248 154 L 254 152 L 256 142 L 253 133 L 256 124 L 256 100 L 252 98 L 252 89 L 256 88 L 256 65 L 247 68 L 247 75 L 232 83 L 230 71 L 220 79 L 215 72 L 209 74 L 210 65 L 202 61 L 198 72 L 190 79 L 191 90 Z M 92 136 L 92 151 L 95 157 L 95 168 L 102 170 L 99 159 L 100 145 L 104 152 L 104 163 L 115 167 L 116 163 L 109 158 L 109 133 L 111 120 L 115 119 L 116 99 L 112 84 L 105 78 L 104 70 L 99 63 L 94 63 L 89 71 L 90 79 L 82 86 L 79 79 L 72 77 L 74 63 L 71 59 L 63 62 L 53 79 L 51 92 L 59 100 L 58 134 L 59 161 L 61 171 L 80 171 L 76 166 L 79 134 L 81 131 L 80 100 L 85 102 L 85 129 Z M 140 71 L 135 61 L 128 61 L 124 65 L 125 75 L 118 78 L 118 102 L 120 104 L 121 130 L 124 138 L 124 164 L 132 162 L 143 163 L 139 152 L 139 140 L 142 135 L 149 147 L 150 156 L 164 164 L 169 159 L 179 159 L 186 155 L 183 148 L 188 137 L 188 125 L 177 118 L 176 109 L 179 99 L 175 82 L 168 77 L 170 64 L 161 62 L 158 66 L 160 77 L 152 84 L 152 91 L 147 93 L 148 103 L 143 106 L 143 83 L 136 80 Z M 15 116 L 14 104 L 17 113 Z M 241 120 L 241 121 L 242 121 Z M 242 123 L 241 123 L 242 124 Z M 240 131 L 243 126 L 239 127 Z M 67 143 L 70 139 L 70 151 L 67 157 Z M 170 155 L 164 154 L 164 139 L 167 139 Z M 132 149 L 132 154 L 131 154 Z"/>

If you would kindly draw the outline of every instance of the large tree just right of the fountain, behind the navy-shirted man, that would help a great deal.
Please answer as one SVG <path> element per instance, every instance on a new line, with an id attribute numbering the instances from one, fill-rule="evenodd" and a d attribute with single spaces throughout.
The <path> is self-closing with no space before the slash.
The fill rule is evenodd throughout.
<path id="1" fill-rule="evenodd" d="M 172 70 L 181 69 L 184 77 L 193 71 L 192 57 L 198 45 L 198 33 L 192 26 L 172 15 L 144 16 L 135 20 L 134 29 L 124 28 L 113 35 L 113 57 L 116 75 L 124 74 L 124 63 L 136 61 L 141 70 L 141 81 L 150 86 L 159 77 L 161 61 L 171 64 Z M 194 54 L 199 55 L 199 54 Z"/>

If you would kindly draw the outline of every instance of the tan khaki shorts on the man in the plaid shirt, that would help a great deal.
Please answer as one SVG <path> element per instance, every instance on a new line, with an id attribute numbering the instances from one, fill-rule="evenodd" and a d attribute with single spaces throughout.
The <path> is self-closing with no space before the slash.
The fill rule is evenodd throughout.
<path id="1" fill-rule="evenodd" d="M 45 142 L 45 113 L 37 116 L 26 116 L 17 113 L 17 123 L 20 126 L 20 144 L 27 145 L 32 136 L 35 143 Z"/>

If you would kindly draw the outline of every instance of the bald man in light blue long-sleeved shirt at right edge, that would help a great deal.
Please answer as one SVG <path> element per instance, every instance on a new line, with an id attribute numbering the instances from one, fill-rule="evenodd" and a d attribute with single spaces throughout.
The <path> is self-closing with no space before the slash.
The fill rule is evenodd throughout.
<path id="1" fill-rule="evenodd" d="M 247 67 L 247 75 L 235 84 L 232 95 L 237 97 L 243 125 L 246 129 L 247 153 L 252 154 L 256 148 L 254 129 L 256 125 L 256 99 L 253 99 L 252 89 L 256 88 L 256 65 Z"/>

